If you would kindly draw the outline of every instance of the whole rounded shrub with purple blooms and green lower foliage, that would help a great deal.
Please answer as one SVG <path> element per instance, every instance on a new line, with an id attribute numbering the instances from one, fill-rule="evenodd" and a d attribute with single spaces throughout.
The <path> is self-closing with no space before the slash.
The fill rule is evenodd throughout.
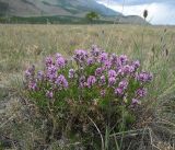
<path id="1" fill-rule="evenodd" d="M 131 124 L 151 80 L 138 60 L 96 46 L 75 50 L 70 60 L 56 54 L 46 58 L 44 70 L 32 66 L 25 71 L 26 92 L 42 112 L 58 118 L 62 127 L 72 122 L 72 128 L 88 126 L 90 116 L 102 132 L 106 125 L 119 130 L 124 117 Z"/>

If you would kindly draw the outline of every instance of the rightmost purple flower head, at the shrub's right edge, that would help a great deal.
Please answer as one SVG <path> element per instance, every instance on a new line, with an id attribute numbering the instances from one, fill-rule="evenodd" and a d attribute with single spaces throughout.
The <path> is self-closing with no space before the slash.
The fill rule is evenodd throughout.
<path id="1" fill-rule="evenodd" d="M 141 72 L 141 73 L 137 74 L 136 78 L 140 82 L 150 82 L 152 80 L 153 76 L 151 73 Z"/>

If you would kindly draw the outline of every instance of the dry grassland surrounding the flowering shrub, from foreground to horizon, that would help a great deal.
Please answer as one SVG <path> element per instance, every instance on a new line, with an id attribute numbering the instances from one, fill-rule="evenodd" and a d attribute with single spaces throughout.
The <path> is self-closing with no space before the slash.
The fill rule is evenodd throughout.
<path id="1" fill-rule="evenodd" d="M 144 31 L 143 39 L 142 31 Z M 107 149 L 107 146 L 114 146 L 114 150 L 173 150 L 175 143 L 174 37 L 174 27 L 161 26 L 145 26 L 143 30 L 143 26 L 132 25 L 113 27 L 112 25 L 1 24 L 0 148 L 101 149 L 98 146 L 102 141 L 98 139 L 103 139 L 104 149 Z M 48 136 L 52 132 L 52 119 L 51 117 L 46 119 L 49 113 L 46 115 L 40 113 L 40 111 L 45 112 L 45 108 L 40 109 L 35 105 L 35 101 L 31 101 L 30 96 L 24 96 L 25 92 L 22 90 L 24 89 L 24 70 L 34 64 L 36 70 L 44 70 L 43 62 L 46 56 L 60 53 L 66 59 L 69 59 L 74 49 L 89 49 L 93 44 L 101 46 L 109 54 L 115 53 L 118 56 L 125 54 L 131 60 L 139 60 L 140 70 L 147 70 L 154 74 L 148 86 L 149 93 L 142 100 L 141 105 L 135 109 L 136 119 L 125 131 L 112 132 L 109 128 L 103 130 L 101 129 L 101 127 L 103 128 L 102 122 L 100 122 L 97 127 L 103 130 L 100 136 L 95 127 L 98 118 L 93 118 L 100 115 L 97 113 L 95 116 L 91 116 L 91 114 L 86 122 L 85 117 L 79 118 L 85 124 L 74 120 L 75 124 L 72 124 L 72 127 L 79 128 L 81 125 L 81 128 L 75 129 L 73 134 L 69 132 L 70 124 L 68 122 L 68 126 L 65 126 L 66 130 L 57 126 L 57 131 L 52 136 Z M 69 113 L 59 113 L 59 117 L 69 116 Z M 71 122 L 71 119 L 69 120 Z M 81 130 L 88 134 L 82 136 Z M 93 135 L 90 136 L 89 131 L 96 134 L 95 138 L 92 138 L 93 140 L 90 139 Z M 70 136 L 67 136 L 69 134 Z"/>

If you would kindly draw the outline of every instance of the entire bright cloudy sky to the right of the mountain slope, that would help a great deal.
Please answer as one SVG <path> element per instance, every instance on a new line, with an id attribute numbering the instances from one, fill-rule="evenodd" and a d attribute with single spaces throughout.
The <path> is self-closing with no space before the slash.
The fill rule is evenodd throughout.
<path id="1" fill-rule="evenodd" d="M 142 16 L 147 9 L 149 11 L 147 20 L 150 23 L 175 25 L 175 0 L 97 0 L 97 2 L 124 15 Z"/>

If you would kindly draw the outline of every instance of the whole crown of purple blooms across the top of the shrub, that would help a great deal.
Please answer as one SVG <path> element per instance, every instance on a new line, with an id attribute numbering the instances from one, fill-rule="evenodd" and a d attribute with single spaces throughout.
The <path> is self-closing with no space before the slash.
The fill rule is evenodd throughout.
<path id="1" fill-rule="evenodd" d="M 47 57 L 44 71 L 38 71 L 35 76 L 33 66 L 25 71 L 25 78 L 28 90 L 42 89 L 48 99 L 54 99 L 55 93 L 61 90 L 71 91 L 77 86 L 78 91 L 92 89 L 92 92 L 97 92 L 95 95 L 102 99 L 106 95 L 129 99 L 130 104 L 135 105 L 147 95 L 144 84 L 153 78 L 150 72 L 140 72 L 139 68 L 138 60 L 131 61 L 126 55 L 117 56 L 93 46 L 90 53 L 75 50 L 71 62 L 60 54 Z"/>

